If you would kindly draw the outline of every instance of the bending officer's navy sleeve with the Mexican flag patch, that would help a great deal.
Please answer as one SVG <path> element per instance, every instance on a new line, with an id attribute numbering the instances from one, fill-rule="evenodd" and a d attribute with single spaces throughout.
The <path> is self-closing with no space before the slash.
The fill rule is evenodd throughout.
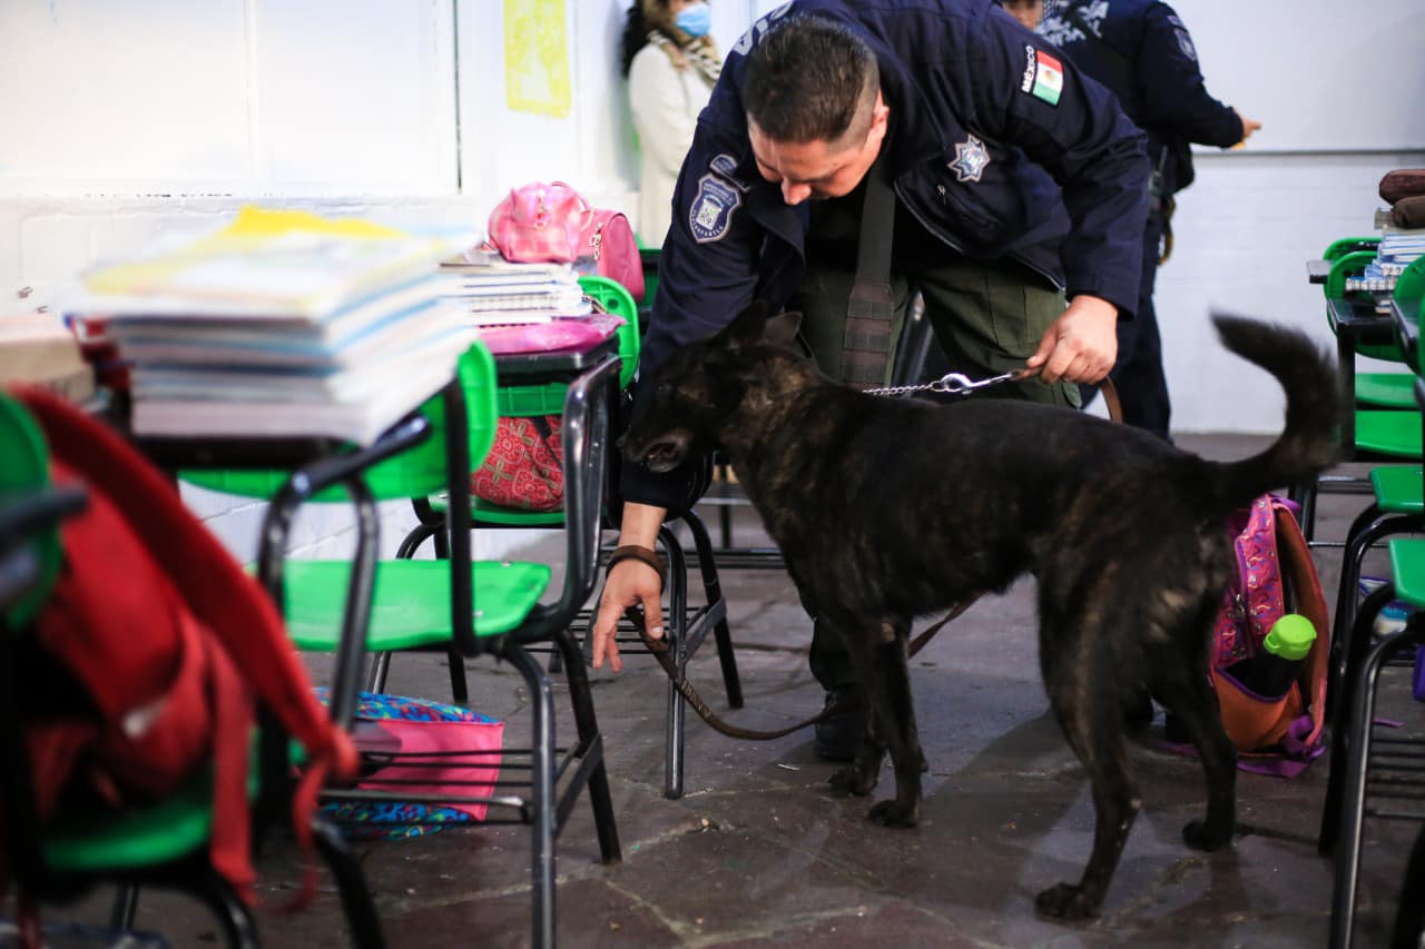
<path id="1" fill-rule="evenodd" d="M 1060 248 L 1069 296 L 1137 308 L 1150 164 L 1143 133 L 1113 94 L 1009 17 L 983 23 L 972 64 L 975 117 L 1059 184 L 1070 234 Z"/>

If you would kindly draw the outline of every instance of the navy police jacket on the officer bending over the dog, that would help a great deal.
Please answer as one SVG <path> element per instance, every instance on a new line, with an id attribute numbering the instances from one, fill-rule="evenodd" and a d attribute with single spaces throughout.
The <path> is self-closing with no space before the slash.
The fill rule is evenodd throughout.
<path id="1" fill-rule="evenodd" d="M 641 378 L 752 299 L 785 305 L 801 282 L 808 211 L 758 174 L 742 104 L 747 54 L 789 14 L 845 23 L 871 46 L 891 108 L 884 148 L 898 205 L 948 254 L 1015 259 L 1046 285 L 1131 316 L 1149 165 L 1141 133 L 1107 90 L 992 0 L 801 0 L 734 46 L 698 118 Z M 687 483 L 626 465 L 621 493 L 677 509 L 695 500 Z"/>

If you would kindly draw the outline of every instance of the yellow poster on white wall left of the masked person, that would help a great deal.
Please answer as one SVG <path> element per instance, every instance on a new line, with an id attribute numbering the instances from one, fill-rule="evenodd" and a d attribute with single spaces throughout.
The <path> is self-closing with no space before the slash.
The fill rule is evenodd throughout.
<path id="1" fill-rule="evenodd" d="M 566 118 L 570 108 L 564 0 L 504 0 L 504 101 Z"/>

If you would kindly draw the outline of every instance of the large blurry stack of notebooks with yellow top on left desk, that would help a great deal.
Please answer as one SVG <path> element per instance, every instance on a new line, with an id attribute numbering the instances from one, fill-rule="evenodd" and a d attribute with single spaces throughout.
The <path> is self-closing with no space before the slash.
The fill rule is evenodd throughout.
<path id="1" fill-rule="evenodd" d="M 138 436 L 366 445 L 470 345 L 436 268 L 470 238 L 247 208 L 215 235 L 87 274 L 66 315 L 128 365 Z"/>

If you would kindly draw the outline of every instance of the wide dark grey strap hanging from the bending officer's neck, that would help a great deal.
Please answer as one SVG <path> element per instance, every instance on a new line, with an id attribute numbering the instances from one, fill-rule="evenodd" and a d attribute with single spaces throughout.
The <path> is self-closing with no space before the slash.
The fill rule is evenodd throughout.
<path id="1" fill-rule="evenodd" d="M 841 345 L 841 379 L 854 386 L 885 385 L 891 361 L 891 238 L 895 231 L 895 190 L 886 178 L 885 151 L 866 172 L 856 242 L 856 279 L 846 302 L 846 329 Z"/>

